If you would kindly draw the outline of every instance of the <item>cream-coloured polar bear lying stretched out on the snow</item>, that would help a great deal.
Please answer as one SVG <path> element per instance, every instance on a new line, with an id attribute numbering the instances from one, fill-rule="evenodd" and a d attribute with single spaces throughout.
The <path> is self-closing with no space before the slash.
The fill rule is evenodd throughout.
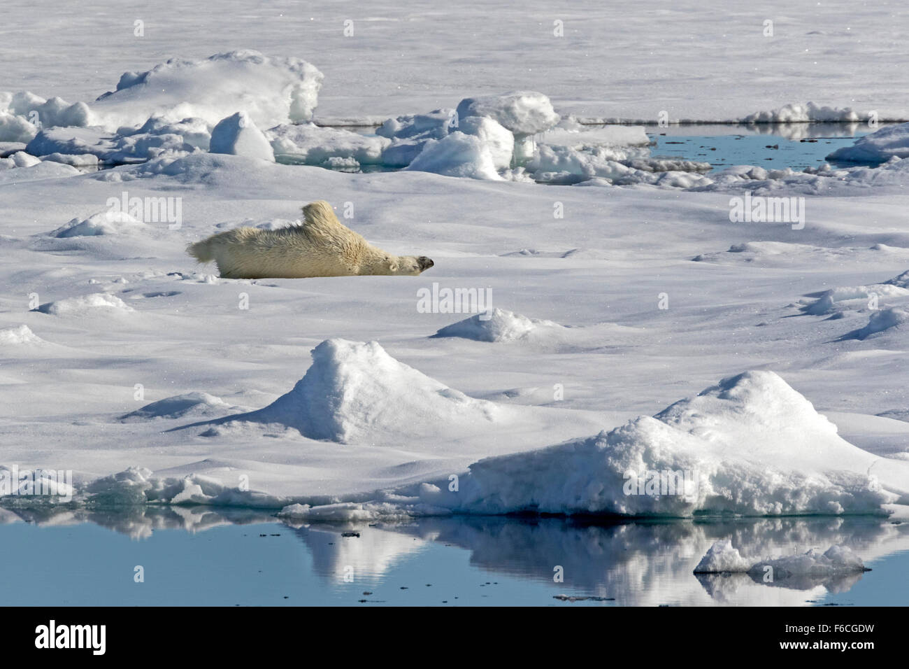
<path id="1" fill-rule="evenodd" d="M 303 208 L 302 225 L 234 228 L 186 247 L 199 262 L 217 263 L 225 279 L 305 279 L 355 275 L 415 277 L 433 267 L 425 256 L 393 256 L 376 248 L 319 200 Z"/>

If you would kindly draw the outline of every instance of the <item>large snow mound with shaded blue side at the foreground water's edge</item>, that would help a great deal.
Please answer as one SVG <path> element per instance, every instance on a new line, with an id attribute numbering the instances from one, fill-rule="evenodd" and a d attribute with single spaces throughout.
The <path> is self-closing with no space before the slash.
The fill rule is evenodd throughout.
<path id="1" fill-rule="evenodd" d="M 475 462 L 460 492 L 421 501 L 473 513 L 883 513 L 907 481 L 909 467 L 844 441 L 774 372 L 747 371 L 653 418 Z"/>

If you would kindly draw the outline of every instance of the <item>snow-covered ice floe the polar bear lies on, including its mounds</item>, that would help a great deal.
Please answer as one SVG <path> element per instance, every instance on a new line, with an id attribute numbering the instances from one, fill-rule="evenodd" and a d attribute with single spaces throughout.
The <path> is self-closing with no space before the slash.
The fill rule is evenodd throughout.
<path id="1" fill-rule="evenodd" d="M 0 188 L 0 271 L 15 283 L 0 326 L 25 325 L 48 342 L 8 344 L 3 461 L 73 469 L 81 494 L 350 502 L 380 515 L 387 504 L 395 513 L 880 512 L 907 499 L 901 432 L 875 454 L 874 441 L 851 445 L 812 408 L 904 408 L 904 340 L 842 339 L 866 324 L 861 309 L 827 320 L 794 302 L 829 286 L 889 286 L 881 309 L 904 299 L 907 258 L 894 250 L 909 248 L 896 223 L 904 196 L 887 187 L 814 196 L 801 230 L 731 224 L 722 193 L 350 175 L 206 153 Z M 127 189 L 184 198 L 183 227 L 48 237 Z M 288 224 L 314 198 L 339 210 L 354 203 L 348 225 L 435 267 L 418 279 L 248 281 L 202 273 L 184 255 L 188 241 L 219 229 Z M 564 218 L 553 218 L 554 198 Z M 876 222 L 853 215 L 868 208 Z M 774 263 L 742 253 L 691 260 L 751 241 L 777 244 Z M 834 252 L 854 260 L 832 263 Z M 793 268 L 802 268 L 795 280 Z M 488 321 L 421 313 L 417 289 L 434 281 L 492 287 L 500 311 Z M 669 309 L 659 309 L 661 293 Z M 241 294 L 249 309 L 238 308 Z M 458 321 L 458 336 L 432 336 Z M 758 371 L 659 412 L 742 367 Z M 38 400 L 48 394 L 52 416 Z M 176 399 L 139 411 L 167 398 Z M 61 445 L 35 449 L 52 441 Z M 530 452 L 511 455 L 519 451 Z M 697 497 L 624 495 L 625 465 L 697 469 Z M 118 472 L 132 473 L 107 478 Z"/>

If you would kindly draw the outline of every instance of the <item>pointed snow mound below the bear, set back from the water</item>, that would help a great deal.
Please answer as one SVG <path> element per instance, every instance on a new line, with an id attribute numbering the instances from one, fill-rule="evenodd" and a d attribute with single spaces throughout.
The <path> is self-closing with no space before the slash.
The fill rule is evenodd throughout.
<path id="1" fill-rule="evenodd" d="M 294 389 L 234 421 L 279 423 L 310 439 L 375 442 L 437 434 L 440 425 L 489 424 L 499 408 L 448 388 L 395 360 L 379 346 L 325 340 Z"/>

